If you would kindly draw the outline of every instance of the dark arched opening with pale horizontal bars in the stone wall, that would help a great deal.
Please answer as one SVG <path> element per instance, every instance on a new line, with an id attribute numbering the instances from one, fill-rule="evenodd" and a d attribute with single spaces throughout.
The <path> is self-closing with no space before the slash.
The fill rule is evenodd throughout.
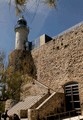
<path id="1" fill-rule="evenodd" d="M 64 85 L 66 111 L 76 110 L 80 114 L 79 89 L 77 82 L 70 82 Z"/>

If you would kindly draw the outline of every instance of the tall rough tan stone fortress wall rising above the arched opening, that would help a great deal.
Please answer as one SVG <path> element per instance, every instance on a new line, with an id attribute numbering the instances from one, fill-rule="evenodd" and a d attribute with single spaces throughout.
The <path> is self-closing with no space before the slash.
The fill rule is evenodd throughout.
<path id="1" fill-rule="evenodd" d="M 83 25 L 32 50 L 32 57 L 37 69 L 37 80 L 54 91 L 67 82 L 77 81 L 83 108 Z"/>

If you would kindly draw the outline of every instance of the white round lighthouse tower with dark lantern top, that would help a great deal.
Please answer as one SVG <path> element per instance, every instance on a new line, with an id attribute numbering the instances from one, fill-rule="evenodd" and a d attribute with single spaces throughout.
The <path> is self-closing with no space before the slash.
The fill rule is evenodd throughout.
<path id="1" fill-rule="evenodd" d="M 27 22 L 24 17 L 19 18 L 17 25 L 15 26 L 16 39 L 15 39 L 15 49 L 16 50 L 26 50 L 28 42 L 29 27 L 27 27 Z"/>

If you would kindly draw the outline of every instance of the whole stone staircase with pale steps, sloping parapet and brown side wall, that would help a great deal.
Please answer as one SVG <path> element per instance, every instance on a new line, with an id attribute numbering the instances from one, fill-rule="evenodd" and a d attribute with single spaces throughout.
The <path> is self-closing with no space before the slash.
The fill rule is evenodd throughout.
<path id="1" fill-rule="evenodd" d="M 45 95 L 28 96 L 24 101 L 14 105 L 8 115 L 14 113 L 22 120 L 44 119 L 45 116 L 64 111 L 64 94 L 47 93 Z"/>

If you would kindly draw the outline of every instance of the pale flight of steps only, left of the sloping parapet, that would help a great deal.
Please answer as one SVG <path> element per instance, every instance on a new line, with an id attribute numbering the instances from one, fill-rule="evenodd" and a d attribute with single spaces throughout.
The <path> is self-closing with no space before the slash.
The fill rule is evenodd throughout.
<path id="1" fill-rule="evenodd" d="M 45 94 L 45 95 L 37 95 L 37 96 L 28 96 L 27 98 L 25 98 L 24 101 L 20 101 L 18 102 L 16 105 L 14 105 L 11 109 L 8 110 L 8 115 L 13 115 L 14 113 L 16 113 L 17 115 L 19 115 L 20 117 L 27 117 L 27 110 L 31 107 L 35 107 L 38 106 L 39 104 L 41 104 L 41 102 L 43 102 L 47 97 L 49 96 L 49 94 Z"/>

